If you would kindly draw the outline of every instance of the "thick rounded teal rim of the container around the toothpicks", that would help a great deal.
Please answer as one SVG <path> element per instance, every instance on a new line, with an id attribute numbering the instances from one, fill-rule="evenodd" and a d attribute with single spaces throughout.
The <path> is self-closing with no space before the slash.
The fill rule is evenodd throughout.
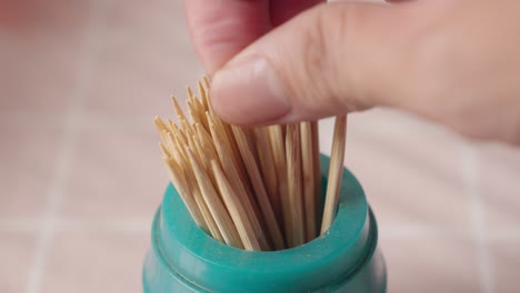
<path id="1" fill-rule="evenodd" d="M 320 161 L 326 190 L 329 158 L 321 155 Z M 209 291 L 231 292 L 237 286 L 264 290 L 267 284 L 290 291 L 328 286 L 359 270 L 377 241 L 364 192 L 347 169 L 332 226 L 293 249 L 251 252 L 218 242 L 197 226 L 171 184 L 158 215 L 153 242 L 167 266 Z"/>

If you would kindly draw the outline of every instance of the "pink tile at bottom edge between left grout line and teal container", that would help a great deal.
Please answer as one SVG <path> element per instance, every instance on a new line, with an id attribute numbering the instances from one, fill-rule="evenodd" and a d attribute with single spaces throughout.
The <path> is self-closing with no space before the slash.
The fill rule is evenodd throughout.
<path id="1" fill-rule="evenodd" d="M 146 233 L 57 232 L 41 292 L 141 292 L 141 270 L 149 242 Z"/>

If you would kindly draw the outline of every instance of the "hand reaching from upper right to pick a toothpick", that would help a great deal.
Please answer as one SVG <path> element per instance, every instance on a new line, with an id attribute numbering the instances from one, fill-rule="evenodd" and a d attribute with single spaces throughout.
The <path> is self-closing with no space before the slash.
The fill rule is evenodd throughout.
<path id="1" fill-rule="evenodd" d="M 268 124 L 393 107 L 520 145 L 520 1 L 188 0 L 212 104 Z"/>

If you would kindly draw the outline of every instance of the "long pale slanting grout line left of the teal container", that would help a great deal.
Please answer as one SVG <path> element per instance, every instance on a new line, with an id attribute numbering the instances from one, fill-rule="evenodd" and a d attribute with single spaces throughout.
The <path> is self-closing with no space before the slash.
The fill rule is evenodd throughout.
<path id="1" fill-rule="evenodd" d="M 71 102 L 64 117 L 64 130 L 62 134 L 61 148 L 59 156 L 53 169 L 53 176 L 49 188 L 41 224 L 38 229 L 36 240 L 36 252 L 32 265 L 29 270 L 26 292 L 39 293 L 43 277 L 43 270 L 47 262 L 47 256 L 52 245 L 52 239 L 57 226 L 57 213 L 63 198 L 63 189 L 67 181 L 67 175 L 71 170 L 73 146 L 77 141 L 77 131 L 82 114 L 82 101 L 87 95 L 87 90 L 90 83 L 92 61 L 94 57 L 93 48 L 97 46 L 96 34 L 99 30 L 101 7 L 99 2 L 92 1 L 87 18 L 86 36 L 83 37 L 80 57 L 82 58 L 77 63 L 77 85 L 71 92 Z"/>

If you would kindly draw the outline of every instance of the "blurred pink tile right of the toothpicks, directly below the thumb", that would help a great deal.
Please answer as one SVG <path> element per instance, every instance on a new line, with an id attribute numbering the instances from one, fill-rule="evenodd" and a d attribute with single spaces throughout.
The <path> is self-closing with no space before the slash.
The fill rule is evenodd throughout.
<path id="1" fill-rule="evenodd" d="M 470 206 L 459 143 L 446 130 L 399 112 L 352 114 L 346 165 L 363 185 L 381 228 L 417 224 L 464 230 Z"/>

